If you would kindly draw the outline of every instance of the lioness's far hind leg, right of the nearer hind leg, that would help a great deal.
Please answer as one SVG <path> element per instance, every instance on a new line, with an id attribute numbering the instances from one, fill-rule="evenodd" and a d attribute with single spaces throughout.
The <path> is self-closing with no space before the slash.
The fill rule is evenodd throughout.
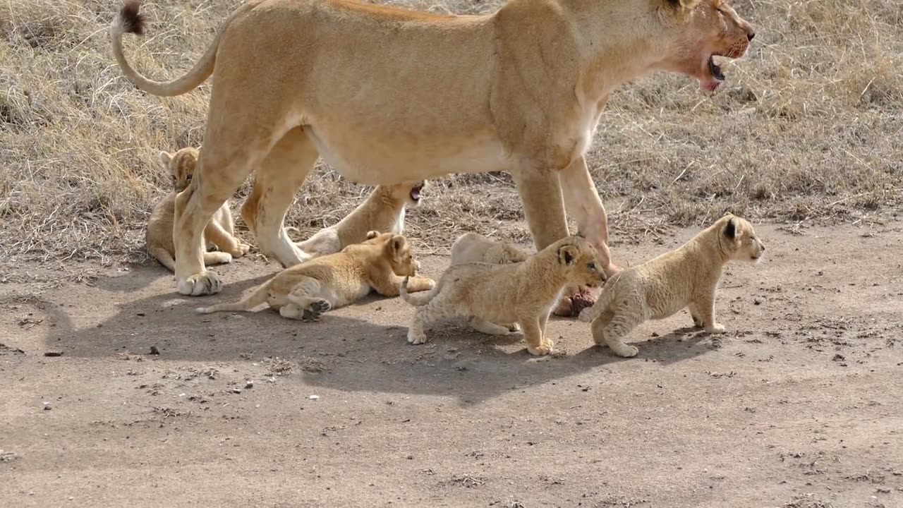
<path id="1" fill-rule="evenodd" d="M 288 268 L 312 256 L 295 245 L 285 232 L 285 212 L 294 194 L 310 174 L 319 156 L 303 127 L 288 131 L 256 170 L 254 189 L 241 207 L 241 215 L 260 249 Z"/>

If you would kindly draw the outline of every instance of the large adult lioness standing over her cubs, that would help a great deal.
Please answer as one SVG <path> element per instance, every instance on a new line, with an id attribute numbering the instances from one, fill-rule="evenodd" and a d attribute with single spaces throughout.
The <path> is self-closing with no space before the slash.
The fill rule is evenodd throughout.
<path id="1" fill-rule="evenodd" d="M 123 33 L 143 32 L 138 5 L 126 3 L 110 30 L 135 86 L 174 96 L 214 75 L 203 178 L 176 224 L 184 295 L 220 286 L 200 233 L 252 172 L 243 213 L 259 247 L 283 266 L 303 259 L 283 221 L 318 156 L 367 184 L 510 172 L 536 249 L 568 235 L 567 210 L 612 274 L 607 217 L 584 159 L 610 93 L 652 71 L 717 89 L 724 74 L 713 57 L 739 58 L 754 35 L 723 0 L 510 0 L 480 15 L 248 0 L 191 71 L 161 82 L 123 54 Z M 556 312 L 587 301 L 565 296 Z"/>

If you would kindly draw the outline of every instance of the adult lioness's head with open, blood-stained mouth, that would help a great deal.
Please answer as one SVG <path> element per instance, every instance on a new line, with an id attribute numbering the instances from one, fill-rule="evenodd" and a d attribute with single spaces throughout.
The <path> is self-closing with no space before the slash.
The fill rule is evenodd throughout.
<path id="1" fill-rule="evenodd" d="M 657 35 L 667 44 L 657 68 L 686 74 L 714 91 L 724 82 L 713 57 L 743 56 L 756 33 L 724 0 L 648 0 L 658 4 L 662 24 Z"/>

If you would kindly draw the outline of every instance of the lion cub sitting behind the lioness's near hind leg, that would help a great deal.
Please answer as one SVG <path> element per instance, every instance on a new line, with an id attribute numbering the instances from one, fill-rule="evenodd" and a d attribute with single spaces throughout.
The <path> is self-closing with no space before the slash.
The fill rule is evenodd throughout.
<path id="1" fill-rule="evenodd" d="M 165 166 L 172 178 L 172 193 L 154 205 L 151 218 L 147 221 L 147 232 L 144 240 L 147 253 L 160 261 L 164 267 L 175 272 L 175 245 L 172 242 L 172 222 L 175 215 L 176 195 L 182 193 L 191 183 L 191 177 L 198 166 L 199 151 L 197 148 L 182 148 L 175 154 L 160 152 L 160 162 Z M 206 241 L 205 241 L 206 240 Z M 207 252 L 207 243 L 215 244 L 223 252 Z M 223 203 L 204 230 L 201 243 L 204 249 L 204 264 L 216 265 L 228 263 L 232 258 L 241 258 L 247 253 L 249 246 L 235 238 L 232 225 L 232 214 L 228 202 Z"/>

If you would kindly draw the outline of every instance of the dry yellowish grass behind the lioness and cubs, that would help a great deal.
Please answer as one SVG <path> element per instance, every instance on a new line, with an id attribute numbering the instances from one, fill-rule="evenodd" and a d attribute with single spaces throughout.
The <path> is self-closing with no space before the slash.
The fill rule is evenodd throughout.
<path id="1" fill-rule="evenodd" d="M 499 5 L 392 3 L 458 13 Z M 140 71 L 172 79 L 235 5 L 149 2 L 149 36 L 128 37 L 126 52 Z M 747 58 L 727 66 L 721 93 L 707 98 L 693 80 L 656 75 L 610 102 L 590 164 L 612 212 L 615 244 L 728 209 L 787 221 L 872 220 L 900 209 L 903 4 L 733 5 L 759 36 Z M 141 259 L 150 203 L 167 187 L 156 152 L 200 144 L 209 84 L 174 99 L 131 86 L 109 52 L 116 8 L 109 0 L 0 5 L 2 259 Z M 288 222 L 315 230 L 366 192 L 323 166 Z M 507 174 L 479 174 L 435 182 L 408 223 L 414 238 L 424 230 L 442 240 L 478 230 L 525 240 L 522 219 Z"/>

